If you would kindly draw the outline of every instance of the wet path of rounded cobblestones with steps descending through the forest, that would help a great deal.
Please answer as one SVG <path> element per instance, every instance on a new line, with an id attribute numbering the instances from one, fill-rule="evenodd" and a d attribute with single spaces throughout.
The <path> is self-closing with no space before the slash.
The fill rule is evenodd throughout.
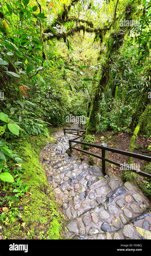
<path id="1" fill-rule="evenodd" d="M 77 127 L 76 124 L 74 126 Z M 145 239 L 135 227 L 150 230 L 148 199 L 130 182 L 103 175 L 77 157 L 68 156 L 68 139 L 62 130 L 40 153 L 56 198 L 67 218 L 65 232 L 73 239 Z"/>

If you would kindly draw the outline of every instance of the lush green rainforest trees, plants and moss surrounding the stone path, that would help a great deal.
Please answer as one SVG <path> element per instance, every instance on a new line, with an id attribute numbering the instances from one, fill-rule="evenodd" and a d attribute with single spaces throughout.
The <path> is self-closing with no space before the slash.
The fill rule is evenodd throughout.
<path id="1" fill-rule="evenodd" d="M 85 142 L 95 143 L 95 133 L 122 132 L 131 136 L 130 151 L 141 136 L 150 154 L 149 42 L 149 0 L 0 4 L 0 230 L 5 238 L 61 238 L 62 216 L 39 152 L 51 141 L 53 127 L 65 126 L 66 116 L 85 117 Z M 142 168 L 149 172 L 148 164 Z M 137 177 L 129 172 L 124 179 L 138 183 Z M 148 195 L 144 181 L 139 186 Z"/>

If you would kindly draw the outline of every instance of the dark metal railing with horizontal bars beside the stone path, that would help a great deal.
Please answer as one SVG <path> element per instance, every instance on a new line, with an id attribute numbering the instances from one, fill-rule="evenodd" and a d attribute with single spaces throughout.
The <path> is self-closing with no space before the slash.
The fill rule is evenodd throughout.
<path id="1" fill-rule="evenodd" d="M 66 130 L 69 130 L 69 132 L 66 132 Z M 74 132 L 70 132 L 72 130 Z M 110 148 L 108 146 L 103 146 L 103 145 L 100 146 L 100 145 L 97 145 L 97 144 L 86 143 L 86 142 L 83 142 L 82 140 L 77 141 L 78 138 L 83 137 L 83 135 L 85 134 L 84 128 L 77 128 L 77 129 L 63 128 L 63 131 L 64 131 L 64 134 L 68 133 L 68 134 L 78 135 L 78 137 L 76 137 L 72 140 L 69 139 L 70 152 L 72 153 L 72 150 L 74 149 L 74 150 L 77 150 L 77 151 L 80 151 L 80 152 L 83 152 L 85 154 L 88 154 L 88 155 L 91 155 L 93 157 L 101 159 L 102 160 L 102 172 L 103 172 L 104 175 L 106 174 L 106 170 L 107 170 L 107 166 L 106 166 L 105 162 L 109 162 L 109 163 L 114 164 L 116 166 L 122 167 L 125 170 L 128 167 L 127 165 L 124 165 L 124 164 L 121 164 L 119 162 L 116 162 L 116 161 L 113 161 L 113 160 L 110 160 L 110 159 L 106 158 L 105 157 L 106 156 L 106 151 L 110 151 L 110 152 L 113 152 L 113 153 L 117 153 L 117 154 L 121 154 L 121 155 L 125 155 L 125 156 L 133 157 L 133 158 L 136 158 L 136 159 L 141 159 L 141 160 L 144 160 L 144 161 L 151 162 L 151 157 L 149 157 L 149 156 L 136 154 L 136 153 L 133 153 L 133 152 L 128 152 L 128 151 L 124 151 L 124 150 L 120 150 L 120 149 Z M 79 132 L 81 132 L 82 135 L 79 136 Z M 90 146 L 90 147 L 94 147 L 94 148 L 99 148 L 99 149 L 101 149 L 102 154 L 101 154 L 101 156 L 99 156 L 99 155 L 93 154 L 91 152 L 88 152 L 88 151 L 85 151 L 85 150 L 82 150 L 82 149 L 79 149 L 79 148 L 75 148 L 75 147 L 73 147 L 72 143 L 82 144 L 82 145 Z M 145 176 L 147 178 L 151 178 L 151 174 L 149 174 L 149 173 L 143 172 L 141 170 L 135 169 L 135 168 L 130 167 L 130 166 L 128 168 L 129 168 L 129 171 L 132 171 L 132 172 L 137 173 L 139 175 Z"/>

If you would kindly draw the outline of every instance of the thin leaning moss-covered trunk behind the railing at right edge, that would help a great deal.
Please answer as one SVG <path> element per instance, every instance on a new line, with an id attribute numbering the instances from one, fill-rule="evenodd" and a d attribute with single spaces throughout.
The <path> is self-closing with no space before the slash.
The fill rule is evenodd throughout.
<path id="1" fill-rule="evenodd" d="M 146 109 L 145 109 L 145 111 L 141 114 L 140 120 L 139 120 L 139 122 L 138 122 L 138 124 L 137 124 L 137 126 L 136 126 L 136 128 L 135 128 L 135 130 L 134 130 L 134 132 L 133 132 L 133 136 L 132 136 L 131 139 L 130 139 L 130 149 L 129 149 L 130 152 L 133 152 L 134 143 L 135 143 L 135 140 L 136 140 L 136 138 L 137 138 L 137 134 L 138 134 L 138 132 L 139 132 L 139 130 L 140 130 L 140 127 L 142 126 L 143 121 L 147 118 L 147 115 L 148 115 L 148 113 L 149 113 L 150 111 L 151 111 L 151 105 L 148 104 L 147 107 L 146 107 Z M 130 164 L 133 164 L 133 158 L 132 158 L 132 157 L 129 157 L 128 162 L 129 162 Z"/>

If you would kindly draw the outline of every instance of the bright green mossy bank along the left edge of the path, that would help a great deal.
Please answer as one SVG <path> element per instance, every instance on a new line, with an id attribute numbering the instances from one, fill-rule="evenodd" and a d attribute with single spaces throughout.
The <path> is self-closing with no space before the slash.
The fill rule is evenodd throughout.
<path id="1" fill-rule="evenodd" d="M 63 216 L 59 212 L 51 187 L 47 183 L 45 172 L 40 165 L 39 153 L 50 138 L 26 137 L 18 142 L 17 151 L 23 158 L 25 174 L 22 180 L 29 186 L 29 193 L 21 199 L 19 205 L 24 211 L 11 219 L 4 228 L 5 239 L 61 239 Z M 23 223 L 18 221 L 23 220 Z M 22 225 L 21 225 L 22 224 Z"/>

